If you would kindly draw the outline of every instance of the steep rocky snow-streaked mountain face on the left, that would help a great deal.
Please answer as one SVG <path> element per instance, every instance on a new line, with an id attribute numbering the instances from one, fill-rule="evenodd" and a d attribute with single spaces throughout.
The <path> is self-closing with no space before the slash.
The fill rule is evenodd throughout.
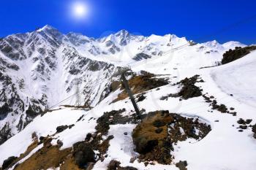
<path id="1" fill-rule="evenodd" d="M 115 67 L 80 55 L 72 46 L 84 41 L 71 37 L 45 26 L 1 39 L 0 144 L 45 107 L 73 95 L 76 78 L 81 80 L 82 104 L 94 106 L 108 93 L 107 78 Z M 62 104 L 75 104 L 75 98 Z"/>

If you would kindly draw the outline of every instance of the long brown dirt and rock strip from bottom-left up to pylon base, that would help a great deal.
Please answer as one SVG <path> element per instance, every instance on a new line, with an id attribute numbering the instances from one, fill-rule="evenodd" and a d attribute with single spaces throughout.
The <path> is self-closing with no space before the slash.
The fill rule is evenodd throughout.
<path id="1" fill-rule="evenodd" d="M 60 150 L 63 144 L 60 140 L 58 140 L 57 145 L 51 144 L 53 136 L 41 136 L 38 142 L 37 134 L 32 134 L 34 143 L 31 144 L 28 150 L 20 155 L 19 158 L 12 158 L 12 160 L 10 158 L 9 162 L 7 162 L 10 164 L 8 167 L 14 166 L 15 163 L 28 155 L 31 150 L 43 143 L 41 149 L 31 155 L 31 157 L 23 163 L 16 165 L 15 169 L 34 170 L 57 167 L 61 170 L 92 169 L 94 163 L 104 161 L 104 159 L 108 157 L 106 152 L 110 146 L 110 140 L 113 139 L 113 136 L 108 136 L 109 125 L 135 123 L 135 119 L 132 116 L 123 117 L 121 115 L 122 112 L 125 112 L 125 109 L 105 112 L 102 117 L 99 117 L 97 120 L 98 124 L 95 127 L 97 131 L 94 134 L 87 134 L 84 141 L 76 142 L 72 147 L 64 150 Z M 64 131 L 66 128 L 69 128 L 69 126 L 59 126 L 57 131 Z"/>

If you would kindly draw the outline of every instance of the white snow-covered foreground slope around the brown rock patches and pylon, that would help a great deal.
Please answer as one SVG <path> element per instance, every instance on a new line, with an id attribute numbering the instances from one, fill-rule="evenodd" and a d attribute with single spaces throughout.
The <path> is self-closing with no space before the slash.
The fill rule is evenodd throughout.
<path id="1" fill-rule="evenodd" d="M 135 125 L 110 125 L 108 134 L 113 135 L 114 139 L 110 140 L 110 147 L 107 152 L 109 156 L 105 161 L 97 162 L 94 169 L 105 169 L 108 163 L 115 159 L 121 162 L 121 166 L 134 166 L 138 169 L 177 169 L 174 163 L 187 161 L 187 169 L 189 170 L 254 170 L 256 167 L 256 140 L 252 137 L 250 128 L 243 132 L 238 132 L 238 123 L 236 121 L 241 117 L 252 119 L 252 124 L 256 123 L 256 108 L 253 105 L 253 101 L 255 101 L 254 85 L 256 83 L 255 66 L 256 53 L 254 52 L 224 66 L 194 70 L 178 69 L 178 71 L 164 72 L 165 74 L 170 74 L 170 77 L 178 76 L 170 79 L 172 83 L 184 77 L 199 74 L 205 82 L 197 82 L 196 85 L 203 89 L 203 93 L 213 95 L 219 103 L 225 104 L 227 107 L 235 107 L 237 116 L 223 114 L 216 110 L 208 112 L 211 107 L 208 107 L 208 104 L 201 96 L 183 101 L 179 101 L 178 98 L 169 98 L 167 101 L 159 100 L 161 96 L 167 93 L 177 92 L 176 86 L 165 85 L 160 90 L 149 90 L 146 93 L 146 99 L 138 103 L 140 108 L 146 109 L 146 112 L 168 109 L 170 112 L 176 112 L 181 115 L 199 117 L 200 120 L 211 125 L 211 132 L 200 141 L 187 140 L 178 142 L 172 152 L 175 155 L 172 165 L 156 164 L 145 167 L 143 163 L 138 163 L 138 161 L 129 163 L 130 158 L 138 155 L 133 150 L 134 145 L 131 137 L 132 129 L 135 128 Z M 153 71 L 150 67 L 148 68 L 147 71 Z M 56 144 L 57 139 L 61 139 L 64 142 L 61 148 L 64 149 L 72 147 L 73 143 L 82 141 L 86 134 L 95 131 L 94 127 L 97 123 L 96 120 L 90 120 L 91 117 L 97 118 L 103 112 L 122 108 L 127 109 L 124 115 L 129 115 L 132 104 L 129 103 L 128 98 L 109 104 L 110 101 L 116 98 L 117 93 L 112 93 L 90 111 L 61 108 L 54 112 L 48 112 L 42 117 L 36 117 L 23 131 L 0 146 L 0 164 L 11 155 L 18 156 L 24 152 L 32 142 L 31 134 L 34 131 L 38 136 L 47 136 L 48 134 L 55 134 L 58 125 L 75 124 L 73 128 L 55 135 L 56 139 L 52 143 Z M 230 96 L 230 93 L 233 96 Z M 251 101 L 248 98 L 251 98 Z M 127 101 L 128 103 L 126 103 Z M 84 115 L 84 120 L 77 123 L 76 121 L 81 115 Z M 215 120 L 219 120 L 219 122 Z M 127 132 L 128 135 L 125 136 L 124 132 Z"/>

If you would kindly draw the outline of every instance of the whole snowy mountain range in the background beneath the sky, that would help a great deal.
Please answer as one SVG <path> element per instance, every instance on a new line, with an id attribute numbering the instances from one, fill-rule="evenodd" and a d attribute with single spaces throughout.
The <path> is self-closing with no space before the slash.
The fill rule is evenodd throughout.
<path id="1" fill-rule="evenodd" d="M 245 46 L 226 44 L 228 48 L 237 45 Z M 75 93 L 76 78 L 83 78 L 83 104 L 89 102 L 94 107 L 108 95 L 111 81 L 106 77 L 111 77 L 116 66 L 165 58 L 169 51 L 173 51 L 173 67 L 214 66 L 226 50 L 217 42 L 192 45 L 174 34 L 136 36 L 121 30 L 93 39 L 76 33 L 61 34 L 49 25 L 7 36 L 0 40 L 0 144 L 21 131 L 45 107 Z M 92 86 L 98 81 L 101 83 Z M 64 104 L 75 104 L 75 98 Z"/>

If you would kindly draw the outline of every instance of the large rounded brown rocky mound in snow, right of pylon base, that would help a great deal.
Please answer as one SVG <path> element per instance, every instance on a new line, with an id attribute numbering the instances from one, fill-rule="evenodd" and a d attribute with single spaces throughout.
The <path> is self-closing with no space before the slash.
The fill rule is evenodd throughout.
<path id="1" fill-rule="evenodd" d="M 173 155 L 173 144 L 188 138 L 202 139 L 211 126 L 200 123 L 198 119 L 182 117 L 168 111 L 149 112 L 142 123 L 132 132 L 136 152 L 140 153 L 139 160 L 157 161 L 170 164 Z"/>

